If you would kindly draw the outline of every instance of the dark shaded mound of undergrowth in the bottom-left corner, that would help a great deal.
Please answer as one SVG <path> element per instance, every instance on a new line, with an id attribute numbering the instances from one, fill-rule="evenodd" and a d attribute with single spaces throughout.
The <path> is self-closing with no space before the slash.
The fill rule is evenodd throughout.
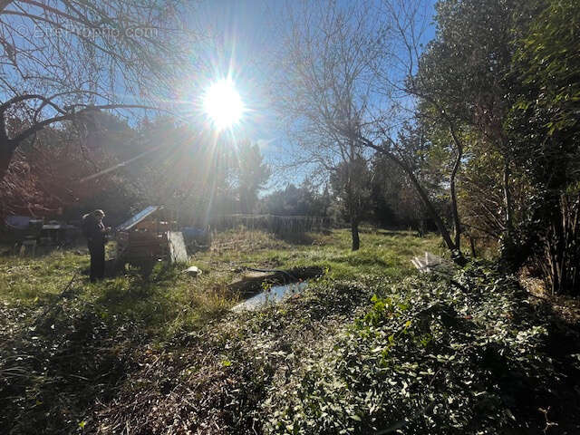
<path id="1" fill-rule="evenodd" d="M 131 326 L 113 327 L 63 304 L 0 345 L 0 426 L 5 433 L 72 433 L 95 401 L 109 401 L 130 372 Z"/>

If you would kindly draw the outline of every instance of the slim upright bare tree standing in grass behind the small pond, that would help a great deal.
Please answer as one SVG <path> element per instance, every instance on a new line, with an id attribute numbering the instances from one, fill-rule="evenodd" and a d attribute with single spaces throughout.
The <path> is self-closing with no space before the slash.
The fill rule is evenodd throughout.
<path id="1" fill-rule="evenodd" d="M 369 103 L 372 29 L 355 5 L 303 3 L 290 10 L 290 34 L 281 54 L 276 99 L 298 145 L 296 163 L 314 164 L 336 180 L 350 221 L 353 250 L 360 247 L 362 178 L 356 171 L 368 150 L 356 139 Z M 345 134 L 346 132 L 346 134 Z M 340 182 L 338 182 L 340 180 Z"/>

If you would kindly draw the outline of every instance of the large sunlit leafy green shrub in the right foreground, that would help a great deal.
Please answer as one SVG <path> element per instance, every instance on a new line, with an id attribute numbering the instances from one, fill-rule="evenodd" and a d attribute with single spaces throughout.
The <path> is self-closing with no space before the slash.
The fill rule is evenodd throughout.
<path id="1" fill-rule="evenodd" d="M 484 266 L 456 285 L 420 275 L 311 353 L 264 403 L 269 433 L 497 433 L 553 375 L 546 327 L 516 283 Z M 467 292 L 459 288 L 463 286 Z"/>

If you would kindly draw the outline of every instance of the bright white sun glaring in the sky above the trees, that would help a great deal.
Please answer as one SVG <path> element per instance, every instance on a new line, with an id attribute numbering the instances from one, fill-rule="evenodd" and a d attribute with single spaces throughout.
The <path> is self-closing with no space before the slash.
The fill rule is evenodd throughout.
<path id="1" fill-rule="evenodd" d="M 234 82 L 229 79 L 219 80 L 208 87 L 203 96 L 203 109 L 218 130 L 237 124 L 245 111 Z"/>

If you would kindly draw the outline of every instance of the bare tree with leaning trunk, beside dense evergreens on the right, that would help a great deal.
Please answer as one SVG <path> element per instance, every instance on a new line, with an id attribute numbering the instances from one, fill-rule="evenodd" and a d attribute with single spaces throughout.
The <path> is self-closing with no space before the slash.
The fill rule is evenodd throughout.
<path id="1" fill-rule="evenodd" d="M 377 8 L 373 2 L 341 6 L 329 0 L 302 5 L 285 15 L 292 20 L 292 32 L 278 86 L 282 112 L 298 132 L 302 149 L 313 160 L 324 160 L 340 154 L 346 144 L 393 161 L 417 189 L 454 259 L 463 264 L 455 195 L 462 144 L 455 124 L 450 125 L 458 146 L 450 177 L 454 238 L 421 183 L 417 156 L 399 138 L 403 119 L 412 113 L 404 102 L 422 98 L 412 83 L 425 28 L 418 18 L 420 3 Z"/>

